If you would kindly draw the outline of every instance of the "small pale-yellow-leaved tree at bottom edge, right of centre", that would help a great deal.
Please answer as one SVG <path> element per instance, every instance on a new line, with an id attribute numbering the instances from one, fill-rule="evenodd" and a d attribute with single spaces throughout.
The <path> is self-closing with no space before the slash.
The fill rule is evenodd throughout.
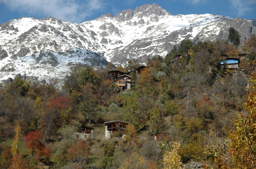
<path id="1" fill-rule="evenodd" d="M 181 169 L 182 163 L 178 154 L 180 143 L 173 142 L 172 148 L 172 151 L 165 151 L 164 153 L 164 169 Z"/>

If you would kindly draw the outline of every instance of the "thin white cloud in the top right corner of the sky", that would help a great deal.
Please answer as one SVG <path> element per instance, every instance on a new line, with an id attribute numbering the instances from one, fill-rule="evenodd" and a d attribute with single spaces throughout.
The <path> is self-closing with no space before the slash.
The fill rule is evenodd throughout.
<path id="1" fill-rule="evenodd" d="M 236 9 L 236 14 L 238 14 L 239 17 L 256 8 L 256 0 L 230 0 L 230 2 Z"/>

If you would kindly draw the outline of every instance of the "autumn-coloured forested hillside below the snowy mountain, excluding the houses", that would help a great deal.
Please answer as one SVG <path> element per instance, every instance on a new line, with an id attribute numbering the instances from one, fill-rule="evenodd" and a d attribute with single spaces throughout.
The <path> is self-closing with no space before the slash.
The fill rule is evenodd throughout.
<path id="1" fill-rule="evenodd" d="M 0 168 L 255 168 L 256 36 L 238 45 L 183 40 L 141 73 L 135 59 L 76 63 L 63 84 L 16 76 L 0 90 Z M 240 68 L 228 69 L 222 56 L 241 53 Z M 131 89 L 120 91 L 111 70 L 129 74 Z M 113 120 L 129 124 L 105 139 Z M 77 138 L 82 124 L 93 137 Z"/>

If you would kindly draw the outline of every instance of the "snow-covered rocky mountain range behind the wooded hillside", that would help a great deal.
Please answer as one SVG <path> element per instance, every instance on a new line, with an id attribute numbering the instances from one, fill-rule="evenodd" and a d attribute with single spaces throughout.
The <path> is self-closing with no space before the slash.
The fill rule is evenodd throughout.
<path id="1" fill-rule="evenodd" d="M 63 78 L 75 62 L 100 67 L 138 58 L 144 63 L 156 54 L 165 56 L 183 39 L 229 40 L 229 27 L 238 30 L 241 43 L 256 32 L 251 20 L 211 14 L 172 16 L 157 4 L 81 24 L 52 17 L 14 19 L 0 25 L 0 81 L 18 73 L 34 80 Z"/>

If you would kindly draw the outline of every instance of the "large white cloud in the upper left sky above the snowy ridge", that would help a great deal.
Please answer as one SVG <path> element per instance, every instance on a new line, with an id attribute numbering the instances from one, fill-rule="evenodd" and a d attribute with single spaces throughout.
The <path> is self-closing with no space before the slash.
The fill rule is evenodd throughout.
<path id="1" fill-rule="evenodd" d="M 0 0 L 1 2 L 12 11 L 43 14 L 76 23 L 80 23 L 92 15 L 93 11 L 104 6 L 101 0 Z"/>

